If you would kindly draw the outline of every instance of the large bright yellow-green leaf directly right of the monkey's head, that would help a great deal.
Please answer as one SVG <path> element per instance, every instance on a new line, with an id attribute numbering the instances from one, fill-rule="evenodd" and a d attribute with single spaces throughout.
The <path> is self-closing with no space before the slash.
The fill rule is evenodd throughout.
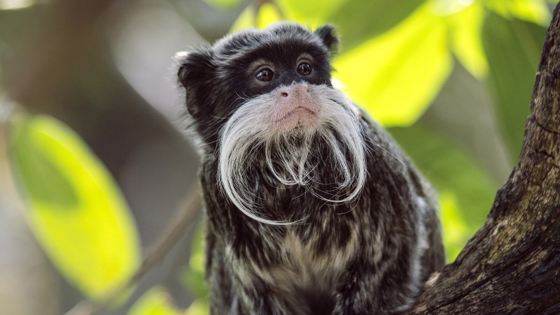
<path id="1" fill-rule="evenodd" d="M 447 23 L 423 6 L 394 29 L 342 54 L 335 77 L 381 124 L 407 126 L 428 108 L 451 66 Z"/>

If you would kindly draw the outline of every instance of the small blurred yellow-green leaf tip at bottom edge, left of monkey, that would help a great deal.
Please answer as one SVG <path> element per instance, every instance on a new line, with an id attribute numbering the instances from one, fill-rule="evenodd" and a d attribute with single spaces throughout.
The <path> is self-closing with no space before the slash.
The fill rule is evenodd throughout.
<path id="1" fill-rule="evenodd" d="M 171 297 L 160 286 L 144 293 L 130 308 L 127 315 L 181 315 L 184 312 L 174 307 Z"/>

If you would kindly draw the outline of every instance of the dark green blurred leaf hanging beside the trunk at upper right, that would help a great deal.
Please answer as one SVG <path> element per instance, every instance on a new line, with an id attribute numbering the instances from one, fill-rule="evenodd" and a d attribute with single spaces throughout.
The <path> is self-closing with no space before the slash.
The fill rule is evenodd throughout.
<path id="1" fill-rule="evenodd" d="M 533 23 L 489 14 L 483 43 L 489 61 L 489 87 L 496 118 L 512 159 L 517 159 L 546 29 Z"/>

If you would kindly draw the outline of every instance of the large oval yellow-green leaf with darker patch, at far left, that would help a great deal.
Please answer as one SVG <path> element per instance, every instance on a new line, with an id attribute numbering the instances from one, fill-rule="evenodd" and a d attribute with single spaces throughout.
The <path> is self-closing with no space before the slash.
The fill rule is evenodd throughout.
<path id="1" fill-rule="evenodd" d="M 123 285 L 139 267 L 138 235 L 102 163 L 43 115 L 15 119 L 9 144 L 27 221 L 52 263 L 93 300 Z"/>

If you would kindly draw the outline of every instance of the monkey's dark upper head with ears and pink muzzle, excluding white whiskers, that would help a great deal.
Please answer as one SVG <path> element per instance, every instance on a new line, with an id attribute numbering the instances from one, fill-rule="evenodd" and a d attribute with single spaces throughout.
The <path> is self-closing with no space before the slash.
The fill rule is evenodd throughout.
<path id="1" fill-rule="evenodd" d="M 280 129 L 313 124 L 318 108 L 307 87 L 331 86 L 329 53 L 336 44 L 332 27 L 311 33 L 297 24 L 281 23 L 264 31 L 241 31 L 213 47 L 189 52 L 180 61 L 178 75 L 188 112 L 200 122 L 199 133 L 213 142 L 241 104 L 271 92 L 278 104 L 269 118 Z"/>

